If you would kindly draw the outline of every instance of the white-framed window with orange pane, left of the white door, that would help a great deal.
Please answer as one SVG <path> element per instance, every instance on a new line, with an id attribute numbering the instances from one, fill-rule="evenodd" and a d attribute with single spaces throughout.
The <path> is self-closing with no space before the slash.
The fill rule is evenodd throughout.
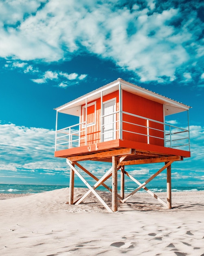
<path id="1" fill-rule="evenodd" d="M 82 122 L 86 122 L 86 106 L 82 107 Z M 87 104 L 87 126 L 93 126 L 96 124 L 96 101 Z M 85 127 L 82 124 L 82 127 Z"/>

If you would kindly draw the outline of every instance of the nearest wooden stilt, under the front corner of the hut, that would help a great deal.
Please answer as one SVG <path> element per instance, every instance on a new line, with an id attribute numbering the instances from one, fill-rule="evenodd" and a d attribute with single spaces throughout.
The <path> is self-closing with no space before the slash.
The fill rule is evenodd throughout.
<path id="1" fill-rule="evenodd" d="M 118 162 L 117 157 L 112 157 L 112 211 L 118 210 Z"/>

